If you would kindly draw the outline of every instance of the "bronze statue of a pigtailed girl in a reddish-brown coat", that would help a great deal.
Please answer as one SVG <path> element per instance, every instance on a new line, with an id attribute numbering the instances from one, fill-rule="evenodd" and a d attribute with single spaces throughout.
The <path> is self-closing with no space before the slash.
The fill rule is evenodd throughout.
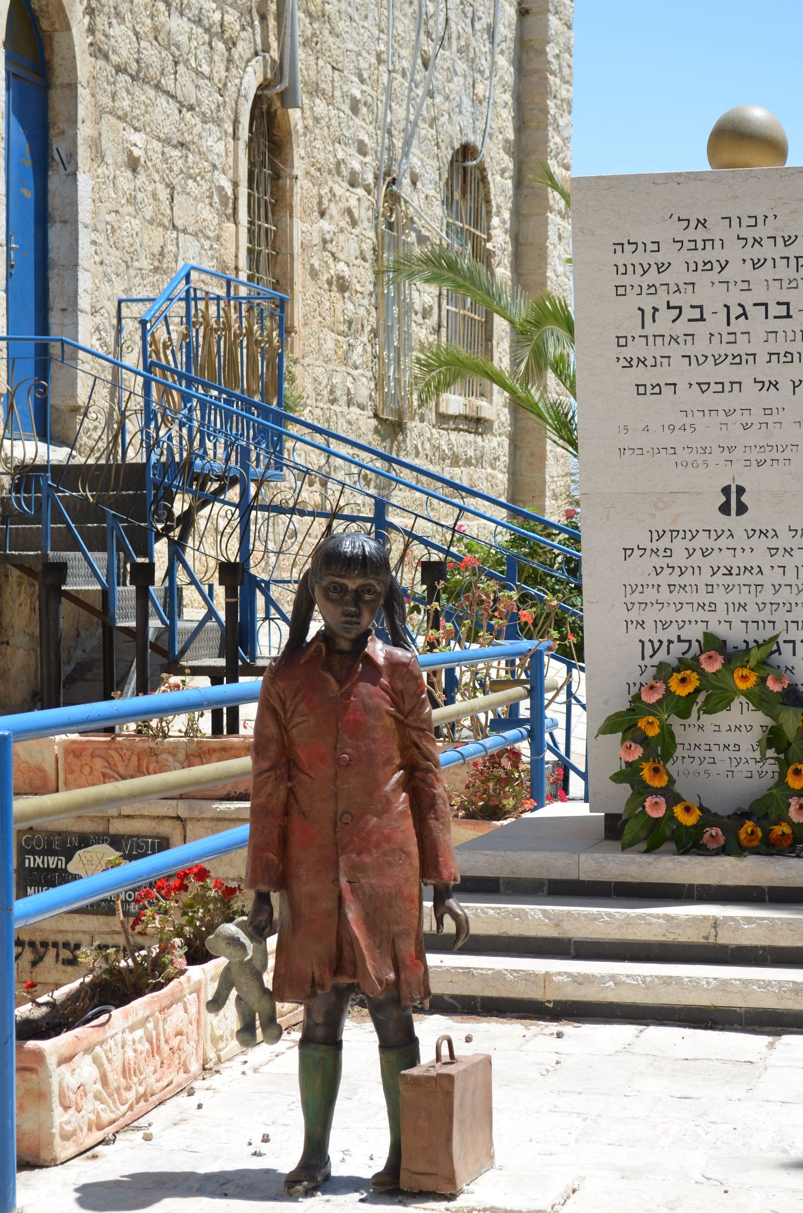
<path id="1" fill-rule="evenodd" d="M 324 627 L 308 642 L 315 605 Z M 371 631 L 380 608 L 391 644 Z M 287 643 L 262 683 L 252 758 L 247 926 L 270 934 L 278 892 L 273 992 L 304 1004 L 304 1146 L 285 1189 L 307 1195 L 331 1174 L 343 1025 L 359 989 L 380 1041 L 391 1128 L 371 1185 L 388 1191 L 402 1161 L 399 1074 L 420 1061 L 412 1006 L 429 997 L 421 883 L 433 885 L 438 933 L 454 919 L 455 947 L 468 918 L 451 893 L 449 801 L 402 587 L 370 536 L 330 535 L 315 548 Z"/>

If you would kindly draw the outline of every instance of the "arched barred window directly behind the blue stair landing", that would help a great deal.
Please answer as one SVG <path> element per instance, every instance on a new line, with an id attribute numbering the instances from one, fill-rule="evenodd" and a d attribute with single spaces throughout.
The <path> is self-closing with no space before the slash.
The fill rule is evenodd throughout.
<path id="1" fill-rule="evenodd" d="M 279 290 L 277 272 L 277 207 L 281 173 L 273 98 L 258 91 L 249 125 L 247 277 L 260 286 Z"/>

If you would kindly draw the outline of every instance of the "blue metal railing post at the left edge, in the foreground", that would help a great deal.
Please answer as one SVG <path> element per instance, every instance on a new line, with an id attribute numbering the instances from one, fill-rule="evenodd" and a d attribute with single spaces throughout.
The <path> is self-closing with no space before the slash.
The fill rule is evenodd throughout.
<path id="1" fill-rule="evenodd" d="M 17 1207 L 13 894 L 13 735 L 0 733 L 0 1213 Z"/>

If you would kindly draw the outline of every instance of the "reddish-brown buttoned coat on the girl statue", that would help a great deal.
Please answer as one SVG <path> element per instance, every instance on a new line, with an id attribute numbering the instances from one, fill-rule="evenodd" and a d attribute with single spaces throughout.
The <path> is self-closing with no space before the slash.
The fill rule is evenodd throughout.
<path id="1" fill-rule="evenodd" d="M 371 636 L 341 685 L 319 633 L 267 671 L 251 752 L 246 885 L 281 894 L 274 997 L 428 998 L 421 881 L 459 872 L 415 655 Z"/>

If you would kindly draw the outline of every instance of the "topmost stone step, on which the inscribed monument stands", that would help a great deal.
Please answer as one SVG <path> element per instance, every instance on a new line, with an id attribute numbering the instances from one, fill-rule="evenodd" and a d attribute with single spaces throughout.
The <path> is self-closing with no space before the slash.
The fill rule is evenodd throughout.
<path id="1" fill-rule="evenodd" d="M 456 848 L 465 893 L 802 902 L 803 859 L 788 855 L 647 855 L 604 837 L 588 805 L 548 805 Z"/>

